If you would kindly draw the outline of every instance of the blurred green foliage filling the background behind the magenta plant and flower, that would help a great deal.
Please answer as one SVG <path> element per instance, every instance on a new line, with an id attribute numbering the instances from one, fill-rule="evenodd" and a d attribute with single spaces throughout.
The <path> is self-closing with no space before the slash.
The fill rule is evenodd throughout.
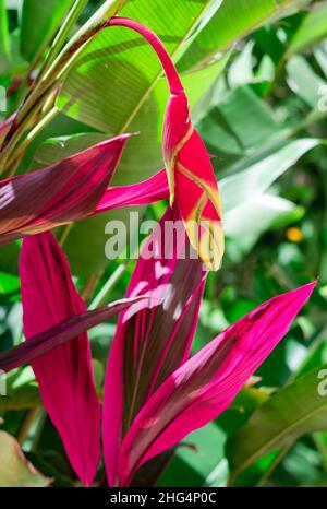
<path id="1" fill-rule="evenodd" d="M 16 109 L 73 3 L 0 0 L 2 118 Z M 78 3 L 71 34 L 104 4 Z M 189 436 L 168 465 L 154 460 L 158 470 L 165 465 L 157 483 L 327 486 L 327 395 L 317 394 L 327 363 L 327 1 L 121 3 L 120 14 L 153 28 L 173 56 L 222 194 L 227 252 L 222 269 L 209 274 L 194 350 L 262 301 L 319 277 L 254 384 L 217 422 Z M 104 31 L 78 55 L 56 118 L 35 137 L 20 171 L 135 131 L 114 184 L 146 178 L 162 167 L 167 97 L 153 50 L 129 31 Z M 141 214 L 158 220 L 165 208 Z M 64 242 L 77 287 L 86 282 L 92 289 L 90 307 L 121 298 L 133 271 L 134 262 L 104 256 L 105 224 L 122 216 L 74 225 Z M 22 341 L 19 252 L 20 242 L 0 249 L 0 351 Z M 113 333 L 114 322 L 89 334 L 99 393 Z M 29 367 L 8 376 L 0 417 L 0 485 L 46 486 L 50 478 L 55 486 L 76 485 Z M 102 474 L 100 467 L 98 480 Z"/>

